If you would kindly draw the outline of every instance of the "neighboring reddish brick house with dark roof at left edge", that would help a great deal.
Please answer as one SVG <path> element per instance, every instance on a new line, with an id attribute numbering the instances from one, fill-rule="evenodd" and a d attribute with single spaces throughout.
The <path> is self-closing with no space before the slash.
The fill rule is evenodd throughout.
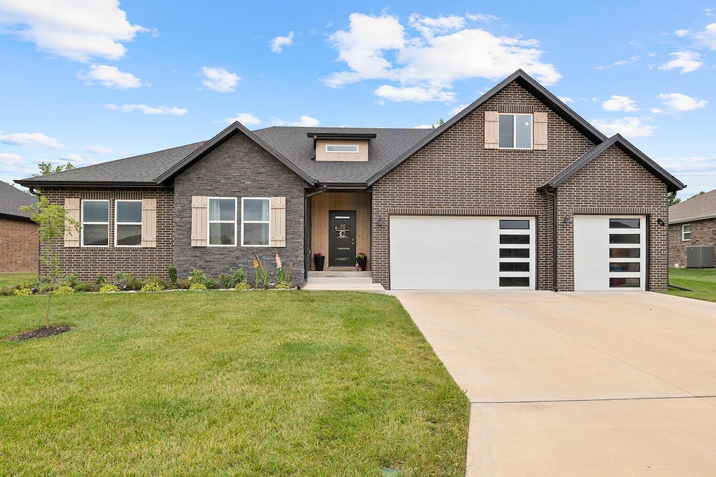
<path id="1" fill-rule="evenodd" d="M 0 273 L 37 272 L 38 225 L 30 212 L 19 210 L 35 202 L 37 197 L 0 182 Z"/>

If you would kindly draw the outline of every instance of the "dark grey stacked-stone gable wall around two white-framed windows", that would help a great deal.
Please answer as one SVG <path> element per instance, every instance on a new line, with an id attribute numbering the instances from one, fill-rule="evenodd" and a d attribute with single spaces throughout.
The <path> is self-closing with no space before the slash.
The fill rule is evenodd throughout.
<path id="1" fill-rule="evenodd" d="M 294 283 L 304 278 L 304 181 L 241 133 L 214 149 L 176 177 L 175 262 L 180 276 L 201 268 L 216 277 L 230 268 L 243 268 L 253 281 L 253 252 L 275 272 L 274 248 L 241 247 L 241 197 L 286 197 L 286 247 L 279 255 L 288 274 L 293 262 Z M 236 197 L 236 247 L 191 246 L 191 197 Z M 272 282 L 276 278 L 272 277 Z"/>

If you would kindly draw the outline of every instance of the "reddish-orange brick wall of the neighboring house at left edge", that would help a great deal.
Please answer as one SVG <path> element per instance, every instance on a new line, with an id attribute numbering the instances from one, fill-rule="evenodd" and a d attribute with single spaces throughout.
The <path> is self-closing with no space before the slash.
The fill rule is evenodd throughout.
<path id="1" fill-rule="evenodd" d="M 37 272 L 37 224 L 0 217 L 0 273 Z"/>

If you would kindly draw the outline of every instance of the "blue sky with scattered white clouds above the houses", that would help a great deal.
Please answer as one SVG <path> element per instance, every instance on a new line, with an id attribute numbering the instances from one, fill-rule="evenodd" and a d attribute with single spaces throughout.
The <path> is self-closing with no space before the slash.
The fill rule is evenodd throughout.
<path id="1" fill-rule="evenodd" d="M 690 197 L 716 189 L 715 65 L 716 1 L 0 0 L 0 180 L 234 119 L 426 127 L 522 68 Z"/>

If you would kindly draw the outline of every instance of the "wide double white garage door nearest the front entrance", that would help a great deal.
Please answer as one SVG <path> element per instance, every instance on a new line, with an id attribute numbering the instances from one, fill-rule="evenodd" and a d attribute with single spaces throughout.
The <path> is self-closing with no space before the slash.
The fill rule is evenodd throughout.
<path id="1" fill-rule="evenodd" d="M 535 288 L 535 220 L 390 217 L 393 290 Z"/>

